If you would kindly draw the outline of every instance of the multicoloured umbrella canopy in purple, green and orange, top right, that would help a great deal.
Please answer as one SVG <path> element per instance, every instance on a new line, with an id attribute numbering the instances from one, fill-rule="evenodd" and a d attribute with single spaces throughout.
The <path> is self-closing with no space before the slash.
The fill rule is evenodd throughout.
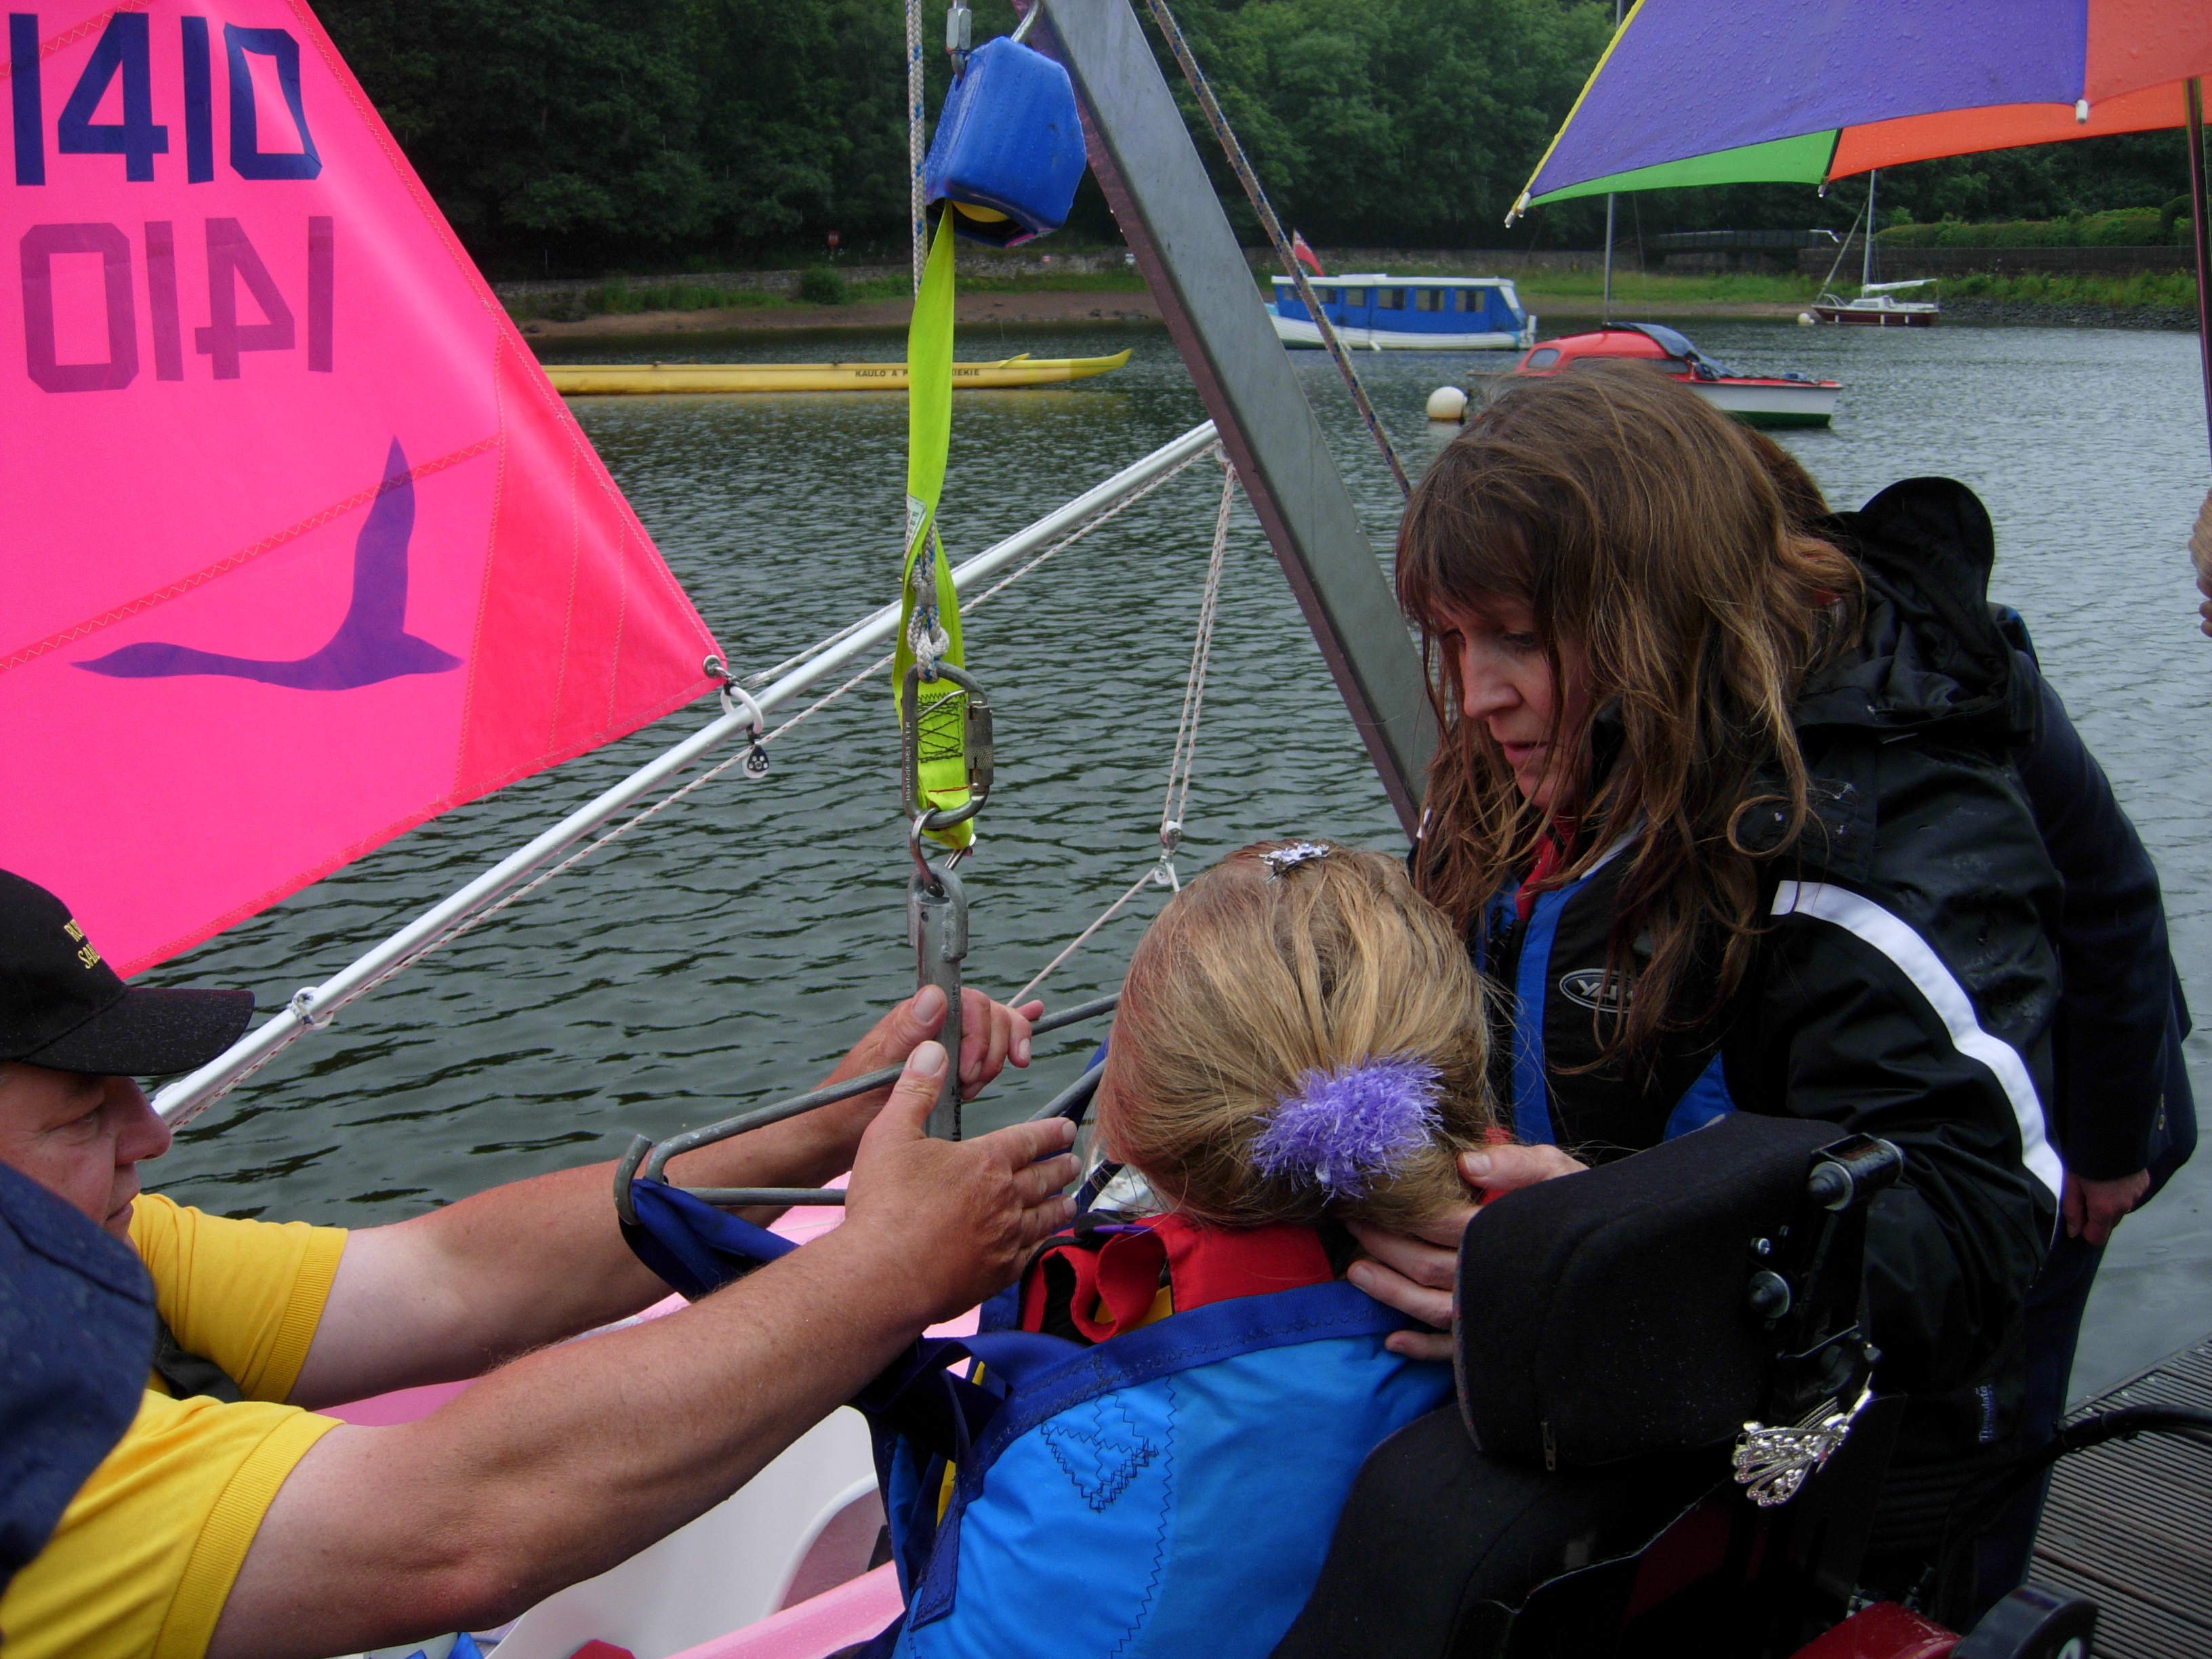
<path id="1" fill-rule="evenodd" d="M 2203 0 L 1639 0 L 1511 217 L 2181 126 L 2192 75 Z"/>

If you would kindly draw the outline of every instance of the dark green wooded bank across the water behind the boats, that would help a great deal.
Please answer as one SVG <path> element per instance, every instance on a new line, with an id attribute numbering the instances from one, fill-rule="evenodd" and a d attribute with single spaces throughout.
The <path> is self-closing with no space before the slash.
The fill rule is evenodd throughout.
<path id="1" fill-rule="evenodd" d="M 1013 27 L 975 0 L 975 40 Z M 703 270 L 905 237 L 900 0 L 323 0 L 325 27 L 493 274 Z M 1588 248 L 1604 204 L 1502 219 L 1613 29 L 1608 0 L 1179 0 L 1285 223 L 1336 246 Z M 925 40 L 942 9 L 925 2 Z M 1166 58 L 1164 58 L 1166 60 Z M 942 104 L 933 44 L 929 111 Z M 1168 64 L 1170 82 L 1181 80 Z M 1725 95 L 1725 64 L 1714 86 Z M 1188 100 L 1186 100 L 1188 108 Z M 1194 117 L 1194 113 L 1192 113 Z M 1212 137 L 1199 128 L 1214 159 Z M 1250 215 L 1223 170 L 1223 199 Z M 1882 175 L 1882 219 L 2055 219 L 2188 188 L 2172 133 Z M 1865 186 L 1661 190 L 1621 237 L 1843 228 Z M 1071 239 L 1110 241 L 1084 186 Z"/>

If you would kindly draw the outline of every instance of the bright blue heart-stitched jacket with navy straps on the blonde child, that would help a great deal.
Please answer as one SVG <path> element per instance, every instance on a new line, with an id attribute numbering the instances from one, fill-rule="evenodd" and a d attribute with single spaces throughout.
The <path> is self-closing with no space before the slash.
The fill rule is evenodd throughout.
<path id="1" fill-rule="evenodd" d="M 701 1287 L 710 1261 L 792 1248 L 668 1188 L 633 1197 L 639 1256 Z M 670 1243 L 670 1223 L 686 1237 Z M 1009 1329 L 1018 1316 L 1009 1290 L 984 1332 L 925 1338 L 854 1400 L 907 1599 L 865 1655 L 1263 1659 L 1305 1606 L 1360 1462 L 1451 1398 L 1449 1367 L 1383 1347 L 1411 1321 L 1338 1281 L 1095 1347 Z M 962 1356 L 969 1378 L 945 1369 Z"/>

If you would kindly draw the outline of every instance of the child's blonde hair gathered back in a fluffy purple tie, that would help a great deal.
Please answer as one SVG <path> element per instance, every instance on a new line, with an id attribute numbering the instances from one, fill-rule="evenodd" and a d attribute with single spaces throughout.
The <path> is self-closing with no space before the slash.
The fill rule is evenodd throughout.
<path id="1" fill-rule="evenodd" d="M 1480 982 L 1451 920 L 1394 858 L 1334 843 L 1281 874 L 1263 841 L 1183 887 L 1121 987 L 1099 1130 L 1164 1203 L 1252 1228 L 1343 1217 L 1409 1228 L 1464 1188 L 1453 1157 L 1493 1124 Z M 1427 1144 L 1334 1197 L 1267 1172 L 1254 1141 L 1314 1073 L 1371 1060 L 1436 1071 Z"/>

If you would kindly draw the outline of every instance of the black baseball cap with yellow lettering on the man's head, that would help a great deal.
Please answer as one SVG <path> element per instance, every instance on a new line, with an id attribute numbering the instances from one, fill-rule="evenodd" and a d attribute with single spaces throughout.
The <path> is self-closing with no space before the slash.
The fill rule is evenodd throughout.
<path id="1" fill-rule="evenodd" d="M 161 1077 L 215 1060 L 252 1013 L 252 991 L 124 984 L 69 905 L 0 869 L 0 1060 Z"/>

